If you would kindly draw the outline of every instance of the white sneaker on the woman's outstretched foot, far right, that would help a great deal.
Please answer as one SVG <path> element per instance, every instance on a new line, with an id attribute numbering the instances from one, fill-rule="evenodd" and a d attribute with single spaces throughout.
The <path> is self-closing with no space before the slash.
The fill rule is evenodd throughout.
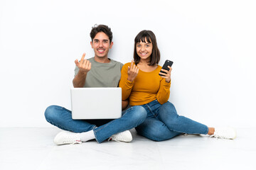
<path id="1" fill-rule="evenodd" d="M 234 128 L 215 128 L 215 132 L 210 137 L 222 138 L 233 140 L 236 137 L 236 131 Z"/>

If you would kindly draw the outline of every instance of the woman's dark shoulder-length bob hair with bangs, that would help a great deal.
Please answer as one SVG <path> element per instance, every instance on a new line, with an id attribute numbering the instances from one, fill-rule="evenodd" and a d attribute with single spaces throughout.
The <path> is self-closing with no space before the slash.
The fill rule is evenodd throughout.
<path id="1" fill-rule="evenodd" d="M 151 30 L 142 30 L 139 34 L 134 38 L 134 62 L 137 65 L 139 63 L 140 57 L 137 54 L 137 43 L 138 42 L 149 42 L 153 45 L 152 53 L 150 56 L 149 66 L 154 66 L 159 63 L 160 60 L 160 51 L 157 47 L 156 43 L 156 35 Z"/>

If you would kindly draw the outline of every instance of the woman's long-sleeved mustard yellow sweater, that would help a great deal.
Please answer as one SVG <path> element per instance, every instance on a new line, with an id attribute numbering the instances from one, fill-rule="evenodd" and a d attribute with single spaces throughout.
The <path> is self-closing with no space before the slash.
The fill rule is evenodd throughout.
<path id="1" fill-rule="evenodd" d="M 166 83 L 165 79 L 159 76 L 161 67 L 158 66 L 153 72 L 143 72 L 139 70 L 134 81 L 127 80 L 128 66 L 131 63 L 124 64 L 121 71 L 119 87 L 122 88 L 122 100 L 129 98 L 129 105 L 138 106 L 157 100 L 164 104 L 170 96 L 171 81 Z"/>

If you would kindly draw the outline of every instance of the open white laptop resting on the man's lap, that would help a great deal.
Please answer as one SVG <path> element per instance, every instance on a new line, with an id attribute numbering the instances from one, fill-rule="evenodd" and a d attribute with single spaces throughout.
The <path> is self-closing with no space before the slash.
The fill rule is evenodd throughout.
<path id="1" fill-rule="evenodd" d="M 117 119 L 122 116 L 122 89 L 72 88 L 73 119 Z"/>

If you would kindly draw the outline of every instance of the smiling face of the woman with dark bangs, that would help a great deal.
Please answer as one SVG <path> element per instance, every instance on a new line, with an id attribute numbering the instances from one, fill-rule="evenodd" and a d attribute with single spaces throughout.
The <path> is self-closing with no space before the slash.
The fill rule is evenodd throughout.
<path id="1" fill-rule="evenodd" d="M 150 60 L 150 55 L 152 54 L 153 45 L 151 42 L 137 42 L 136 50 L 137 55 L 141 58 L 141 60 Z"/>

